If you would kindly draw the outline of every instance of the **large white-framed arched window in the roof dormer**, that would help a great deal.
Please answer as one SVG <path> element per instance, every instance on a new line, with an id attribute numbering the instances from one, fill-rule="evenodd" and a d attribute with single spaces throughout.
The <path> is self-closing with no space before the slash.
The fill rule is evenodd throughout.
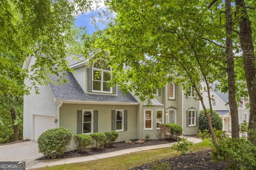
<path id="1" fill-rule="evenodd" d="M 107 61 L 98 59 L 92 66 L 92 90 L 98 92 L 112 92 L 107 82 L 111 79 L 111 68 Z"/>

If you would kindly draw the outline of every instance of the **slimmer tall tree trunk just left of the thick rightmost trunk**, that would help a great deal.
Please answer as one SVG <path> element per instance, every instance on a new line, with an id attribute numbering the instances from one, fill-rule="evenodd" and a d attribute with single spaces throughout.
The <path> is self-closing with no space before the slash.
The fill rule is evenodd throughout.
<path id="1" fill-rule="evenodd" d="M 230 106 L 232 138 L 239 138 L 238 108 L 236 104 L 236 86 L 234 77 L 231 0 L 225 0 L 226 7 L 226 61 L 228 73 L 228 103 Z"/>

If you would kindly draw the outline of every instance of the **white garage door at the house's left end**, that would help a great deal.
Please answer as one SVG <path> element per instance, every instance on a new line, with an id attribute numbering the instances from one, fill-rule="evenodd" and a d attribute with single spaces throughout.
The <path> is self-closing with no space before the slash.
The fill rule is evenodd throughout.
<path id="1" fill-rule="evenodd" d="M 34 127 L 34 140 L 37 141 L 38 137 L 48 129 L 56 127 L 54 120 L 55 115 L 35 115 L 35 127 Z"/>

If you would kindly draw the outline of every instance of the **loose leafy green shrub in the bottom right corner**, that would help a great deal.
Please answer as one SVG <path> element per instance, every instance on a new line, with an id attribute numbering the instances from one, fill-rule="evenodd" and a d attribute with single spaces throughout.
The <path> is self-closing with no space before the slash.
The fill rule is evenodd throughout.
<path id="1" fill-rule="evenodd" d="M 212 147 L 214 160 L 226 161 L 230 169 L 255 170 L 256 146 L 245 136 L 238 138 L 223 137 Z"/>

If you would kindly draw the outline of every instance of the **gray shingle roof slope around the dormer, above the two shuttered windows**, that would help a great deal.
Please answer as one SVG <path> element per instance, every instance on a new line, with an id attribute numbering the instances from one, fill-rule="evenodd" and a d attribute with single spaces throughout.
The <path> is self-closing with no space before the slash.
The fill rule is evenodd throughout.
<path id="1" fill-rule="evenodd" d="M 52 93 L 56 99 L 59 100 L 80 100 L 80 101 L 101 101 L 101 102 L 128 102 L 138 103 L 138 101 L 132 96 L 132 94 L 123 94 L 118 87 L 118 96 L 106 95 L 106 94 L 86 94 L 78 84 L 72 73 L 65 72 L 67 74 L 66 79 L 69 83 L 62 85 L 55 85 L 49 83 Z M 56 75 L 50 76 L 54 82 L 57 82 L 58 77 Z"/>

